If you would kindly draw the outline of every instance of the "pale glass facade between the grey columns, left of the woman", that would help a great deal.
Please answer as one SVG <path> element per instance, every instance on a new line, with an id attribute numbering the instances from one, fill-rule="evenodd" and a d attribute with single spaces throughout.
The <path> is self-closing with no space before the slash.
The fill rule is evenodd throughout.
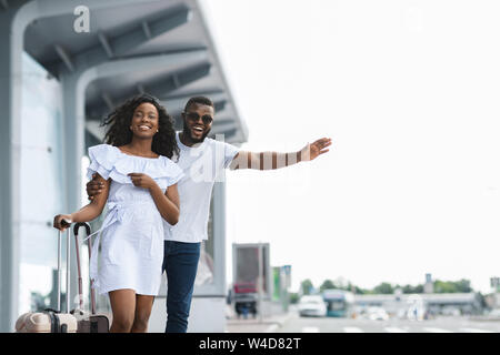
<path id="1" fill-rule="evenodd" d="M 64 210 L 61 85 L 27 53 L 22 67 L 20 313 L 57 306 L 52 219 Z"/>

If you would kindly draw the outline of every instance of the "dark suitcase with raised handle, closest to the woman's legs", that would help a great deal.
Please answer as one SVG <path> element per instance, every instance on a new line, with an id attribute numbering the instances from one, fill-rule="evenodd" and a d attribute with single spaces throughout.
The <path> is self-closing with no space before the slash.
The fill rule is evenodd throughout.
<path id="1" fill-rule="evenodd" d="M 96 291 L 92 287 L 93 281 L 90 280 L 90 314 L 83 311 L 83 292 L 80 268 L 80 243 L 78 240 L 78 231 L 81 226 L 86 227 L 87 239 L 89 240 L 89 260 L 92 256 L 92 240 L 90 234 L 90 225 L 88 223 L 77 223 L 73 227 L 74 250 L 77 251 L 77 270 L 78 270 L 78 295 L 79 308 L 72 310 L 70 313 L 77 317 L 77 333 L 109 333 L 109 318 L 103 314 L 96 314 Z"/>

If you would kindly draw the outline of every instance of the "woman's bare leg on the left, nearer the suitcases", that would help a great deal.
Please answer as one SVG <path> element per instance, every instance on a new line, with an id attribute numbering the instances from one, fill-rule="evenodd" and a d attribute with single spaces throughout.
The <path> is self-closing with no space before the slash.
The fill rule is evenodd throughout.
<path id="1" fill-rule="evenodd" d="M 130 333 L 136 314 L 136 291 L 116 290 L 109 293 L 109 301 L 113 312 L 111 333 Z"/>

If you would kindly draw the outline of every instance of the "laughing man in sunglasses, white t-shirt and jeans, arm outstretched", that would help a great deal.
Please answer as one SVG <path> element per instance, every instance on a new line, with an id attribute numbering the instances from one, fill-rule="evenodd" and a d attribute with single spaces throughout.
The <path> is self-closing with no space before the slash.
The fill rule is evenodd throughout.
<path id="1" fill-rule="evenodd" d="M 191 297 L 200 257 L 200 245 L 208 239 L 210 197 L 218 174 L 227 168 L 274 170 L 327 153 L 331 139 L 320 139 L 293 153 L 240 151 L 234 145 L 207 138 L 214 106 L 204 97 L 191 98 L 182 112 L 183 130 L 177 134 L 178 165 L 184 178 L 178 183 L 180 217 L 174 226 L 164 222 L 164 258 L 167 272 L 167 333 L 186 333 Z M 173 159 L 176 161 L 176 159 Z M 99 184 L 87 184 L 89 199 L 99 194 Z"/>

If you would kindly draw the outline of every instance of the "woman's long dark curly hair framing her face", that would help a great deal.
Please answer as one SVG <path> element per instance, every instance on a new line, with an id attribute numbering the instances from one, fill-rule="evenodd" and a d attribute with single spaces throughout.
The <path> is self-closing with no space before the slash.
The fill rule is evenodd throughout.
<path id="1" fill-rule="evenodd" d="M 167 158 L 172 158 L 174 154 L 179 156 L 179 146 L 177 145 L 176 131 L 173 129 L 173 120 L 167 110 L 159 103 L 158 99 L 143 93 L 128 99 L 124 103 L 116 108 L 104 119 L 102 126 L 107 125 L 104 142 L 114 146 L 121 146 L 132 141 L 132 131 L 130 131 L 130 123 L 132 121 L 133 112 L 141 103 L 151 103 L 158 110 L 159 132 L 154 134 L 151 150 Z"/>

